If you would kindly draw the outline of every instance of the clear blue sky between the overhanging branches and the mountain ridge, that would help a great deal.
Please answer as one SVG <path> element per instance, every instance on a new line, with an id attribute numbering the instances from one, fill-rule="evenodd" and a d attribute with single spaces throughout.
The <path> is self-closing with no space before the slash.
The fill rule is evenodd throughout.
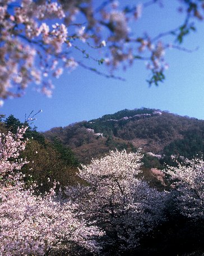
<path id="1" fill-rule="evenodd" d="M 136 31 L 138 35 L 147 31 L 156 35 L 181 24 L 183 17 L 175 11 L 177 1 L 164 3 L 163 9 L 154 6 L 145 10 L 142 19 L 132 25 L 132 32 Z M 42 109 L 43 113 L 39 113 L 35 121 L 39 131 L 142 106 L 204 119 L 204 21 L 196 26 L 197 32 L 188 35 L 183 46 L 189 49 L 199 46 L 199 49 L 193 53 L 166 52 L 170 68 L 166 71 L 165 82 L 159 87 L 149 87 L 146 83 L 149 71 L 140 61 L 126 72 L 115 72 L 126 82 L 77 68 L 72 73 L 65 71 L 61 78 L 53 80 L 52 98 L 35 92 L 30 86 L 24 97 L 6 100 L 1 113 L 13 114 L 24 121 L 25 114 Z"/>

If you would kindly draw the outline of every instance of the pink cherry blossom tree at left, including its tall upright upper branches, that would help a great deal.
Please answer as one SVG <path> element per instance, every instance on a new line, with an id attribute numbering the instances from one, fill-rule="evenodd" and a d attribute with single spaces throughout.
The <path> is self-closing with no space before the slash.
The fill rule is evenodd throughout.
<path id="1" fill-rule="evenodd" d="M 0 150 L 0 254 L 76 255 L 78 248 L 98 251 L 94 238 L 103 235 L 91 222 L 75 213 L 76 205 L 55 195 L 54 187 L 37 196 L 34 186 L 25 189 L 20 170 L 26 161 L 18 156 L 24 150 L 26 128 L 17 134 L 1 134 Z"/>

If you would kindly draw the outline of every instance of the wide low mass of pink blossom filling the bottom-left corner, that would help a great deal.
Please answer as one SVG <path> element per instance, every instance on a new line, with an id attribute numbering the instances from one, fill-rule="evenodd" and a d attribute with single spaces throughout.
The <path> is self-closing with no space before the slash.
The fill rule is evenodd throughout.
<path id="1" fill-rule="evenodd" d="M 76 255 L 76 246 L 99 249 L 92 237 L 103 232 L 91 223 L 87 226 L 74 213 L 76 205 L 58 200 L 53 190 L 44 197 L 35 196 L 16 181 L 15 186 L 0 187 L 0 198 L 2 255 Z"/>

